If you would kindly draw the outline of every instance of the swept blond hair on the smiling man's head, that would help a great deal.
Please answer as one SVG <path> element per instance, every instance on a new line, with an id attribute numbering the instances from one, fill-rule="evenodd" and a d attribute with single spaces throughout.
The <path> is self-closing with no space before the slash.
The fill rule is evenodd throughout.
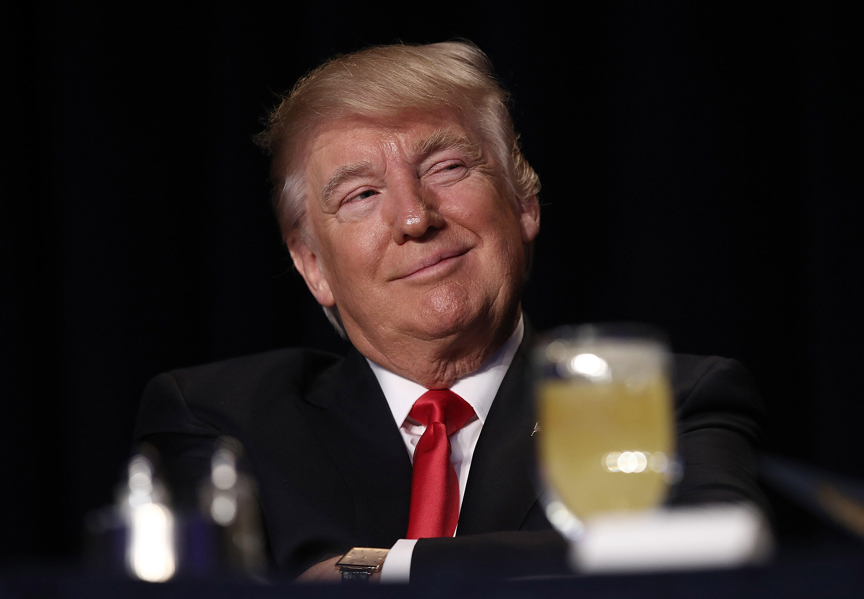
<path id="1" fill-rule="evenodd" d="M 536 201 L 540 179 L 522 155 L 508 102 L 489 58 L 467 41 L 376 46 L 325 62 L 283 96 L 255 138 L 273 156 L 273 207 L 283 238 L 302 231 L 305 219 L 306 144 L 340 118 L 454 110 L 488 144 L 512 199 Z"/>

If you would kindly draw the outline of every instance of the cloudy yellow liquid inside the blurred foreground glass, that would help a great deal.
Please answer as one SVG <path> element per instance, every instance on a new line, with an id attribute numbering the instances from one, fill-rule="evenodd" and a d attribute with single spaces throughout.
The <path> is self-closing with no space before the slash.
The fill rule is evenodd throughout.
<path id="1" fill-rule="evenodd" d="M 664 500 L 664 460 L 674 449 L 664 379 L 638 386 L 543 380 L 537 400 L 543 473 L 576 516 L 647 509 Z"/>

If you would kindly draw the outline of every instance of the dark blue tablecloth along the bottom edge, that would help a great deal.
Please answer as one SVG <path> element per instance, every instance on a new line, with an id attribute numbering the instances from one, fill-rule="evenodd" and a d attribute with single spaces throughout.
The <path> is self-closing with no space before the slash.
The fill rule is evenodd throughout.
<path id="1" fill-rule="evenodd" d="M 766 599 L 767 597 L 820 597 L 841 599 L 864 596 L 864 547 L 854 544 L 809 545 L 785 549 L 764 567 L 741 570 L 687 572 L 678 574 L 631 575 L 614 577 L 568 577 L 508 582 L 449 583 L 442 580 L 433 587 L 369 586 L 308 587 L 273 579 L 268 584 L 239 580 L 174 580 L 168 583 L 140 583 L 57 568 L 3 568 L 0 596 L 24 598 L 80 597 L 164 597 L 192 599 L 327 599 L 328 597 L 444 597 L 446 599 L 483 599 L 529 597 L 579 599 L 620 597 L 621 599 Z"/>

